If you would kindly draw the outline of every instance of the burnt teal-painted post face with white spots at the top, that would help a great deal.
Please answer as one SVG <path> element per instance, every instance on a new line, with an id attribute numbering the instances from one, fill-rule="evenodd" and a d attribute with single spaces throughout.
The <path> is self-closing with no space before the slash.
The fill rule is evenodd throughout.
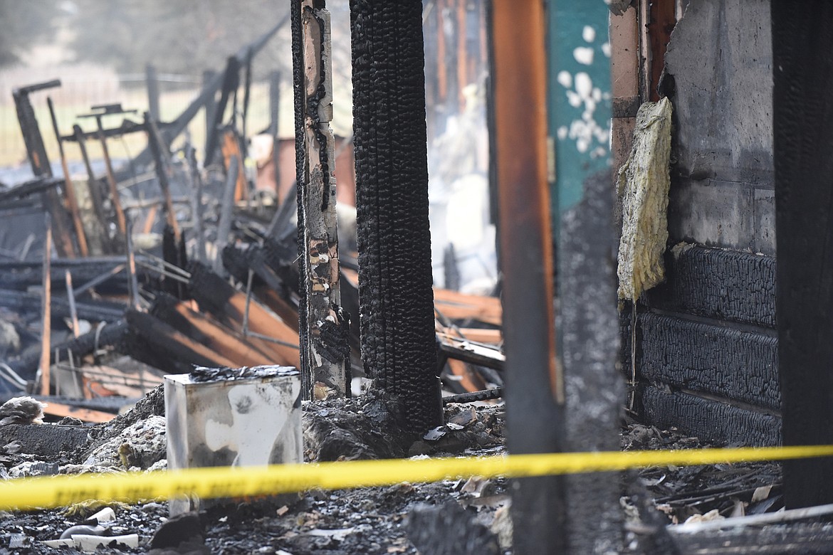
<path id="1" fill-rule="evenodd" d="M 556 337 L 564 373 L 566 448 L 618 450 L 625 380 L 616 369 L 619 318 L 611 265 L 616 260 L 615 184 L 611 63 L 605 46 L 610 11 L 604 2 L 556 0 L 550 7 L 547 119 L 555 145 L 552 213 L 561 312 Z M 584 131 L 574 131 L 579 128 Z M 568 552 L 621 552 L 620 476 L 576 474 L 565 482 Z"/>

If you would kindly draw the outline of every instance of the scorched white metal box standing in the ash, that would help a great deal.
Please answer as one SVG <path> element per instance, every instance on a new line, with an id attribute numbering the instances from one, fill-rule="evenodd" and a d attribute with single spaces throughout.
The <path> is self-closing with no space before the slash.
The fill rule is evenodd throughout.
<path id="1" fill-rule="evenodd" d="M 287 366 L 165 376 L 167 468 L 301 463 L 301 376 Z M 171 514 L 205 508 L 172 499 Z"/>

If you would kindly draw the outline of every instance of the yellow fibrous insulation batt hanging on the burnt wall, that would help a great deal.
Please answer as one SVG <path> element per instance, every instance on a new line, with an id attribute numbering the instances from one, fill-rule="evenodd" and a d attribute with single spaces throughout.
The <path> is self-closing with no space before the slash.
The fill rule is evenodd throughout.
<path id="1" fill-rule="evenodd" d="M 619 170 L 622 200 L 619 298 L 636 300 L 665 279 L 662 253 L 668 240 L 668 159 L 671 102 L 646 102 L 636 113 L 631 156 Z"/>

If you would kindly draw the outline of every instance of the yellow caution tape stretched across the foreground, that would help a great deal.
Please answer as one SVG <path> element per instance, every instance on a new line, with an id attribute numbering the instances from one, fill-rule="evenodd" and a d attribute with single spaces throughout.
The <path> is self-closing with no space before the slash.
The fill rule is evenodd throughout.
<path id="1" fill-rule="evenodd" d="M 245 498 L 312 488 L 362 488 L 471 476 L 523 478 L 670 464 L 688 466 L 831 456 L 833 445 L 816 445 L 386 459 L 18 478 L 0 483 L 0 510 L 63 507 L 87 499 L 118 499 L 135 503 L 140 499 L 186 495 L 197 495 L 200 498 Z"/>

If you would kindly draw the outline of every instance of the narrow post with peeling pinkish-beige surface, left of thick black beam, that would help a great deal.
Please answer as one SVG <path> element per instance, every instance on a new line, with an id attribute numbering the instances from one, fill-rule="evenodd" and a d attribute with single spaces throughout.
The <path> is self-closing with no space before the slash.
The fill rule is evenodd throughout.
<path id="1" fill-rule="evenodd" d="M 336 157 L 332 120 L 332 57 L 330 12 L 325 2 L 301 0 L 294 14 L 300 17 L 300 33 L 293 33 L 292 47 L 302 52 L 302 81 L 295 94 L 302 97 L 302 120 L 296 121 L 303 148 L 298 151 L 302 176 L 298 180 L 300 287 L 306 303 L 301 328 L 303 394 L 313 388 L 338 397 L 350 394 L 349 323 L 343 316 L 338 276 L 338 231 L 336 216 Z M 294 24 L 294 22 L 293 22 Z M 323 389 L 322 389 L 323 388 Z"/>

